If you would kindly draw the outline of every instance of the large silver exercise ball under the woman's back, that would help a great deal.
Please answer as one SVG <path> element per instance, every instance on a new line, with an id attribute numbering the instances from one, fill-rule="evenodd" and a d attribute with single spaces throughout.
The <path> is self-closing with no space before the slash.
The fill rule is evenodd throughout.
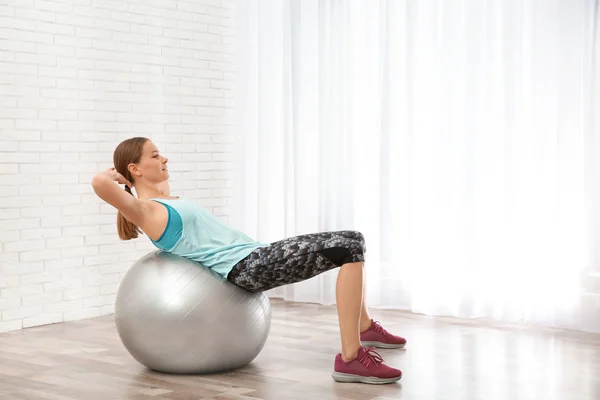
<path id="1" fill-rule="evenodd" d="M 271 328 L 271 304 L 262 292 L 248 292 L 198 263 L 157 251 L 123 278 L 115 323 L 127 351 L 152 370 L 223 372 L 260 353 Z"/>

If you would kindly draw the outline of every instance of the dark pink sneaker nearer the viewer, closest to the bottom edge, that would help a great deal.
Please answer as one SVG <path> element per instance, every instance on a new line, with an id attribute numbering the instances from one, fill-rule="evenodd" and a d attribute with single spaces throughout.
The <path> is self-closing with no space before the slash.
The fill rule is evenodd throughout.
<path id="1" fill-rule="evenodd" d="M 385 365 L 375 350 L 361 347 L 352 361 L 345 362 L 341 354 L 335 356 L 331 376 L 337 382 L 384 384 L 400 380 L 402 371 Z"/>

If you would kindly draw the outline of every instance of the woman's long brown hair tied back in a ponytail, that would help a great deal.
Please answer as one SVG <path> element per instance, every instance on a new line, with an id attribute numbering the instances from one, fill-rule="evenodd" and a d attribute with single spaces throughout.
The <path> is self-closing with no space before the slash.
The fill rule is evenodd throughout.
<path id="1" fill-rule="evenodd" d="M 124 140 L 119 143 L 113 153 L 113 164 L 115 169 L 132 184 L 134 184 L 133 176 L 129 172 L 128 166 L 131 163 L 137 164 L 140 162 L 144 144 L 146 144 L 148 140 L 149 139 L 145 137 L 133 137 Z M 125 185 L 125 191 L 133 196 L 129 186 Z M 142 233 L 140 228 L 125 218 L 120 211 L 117 213 L 117 231 L 119 232 L 121 240 L 135 239 Z"/>

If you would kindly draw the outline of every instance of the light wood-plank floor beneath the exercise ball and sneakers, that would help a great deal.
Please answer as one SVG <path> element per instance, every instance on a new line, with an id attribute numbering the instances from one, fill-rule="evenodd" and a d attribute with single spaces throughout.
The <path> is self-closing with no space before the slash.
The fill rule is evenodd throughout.
<path id="1" fill-rule="evenodd" d="M 331 379 L 335 308 L 273 301 L 263 352 L 222 375 L 148 371 L 124 350 L 112 317 L 0 335 L 0 399 L 600 399 L 600 336 L 373 311 L 408 339 L 381 350 L 398 384 Z M 316 326 L 316 327 L 315 327 Z"/>

